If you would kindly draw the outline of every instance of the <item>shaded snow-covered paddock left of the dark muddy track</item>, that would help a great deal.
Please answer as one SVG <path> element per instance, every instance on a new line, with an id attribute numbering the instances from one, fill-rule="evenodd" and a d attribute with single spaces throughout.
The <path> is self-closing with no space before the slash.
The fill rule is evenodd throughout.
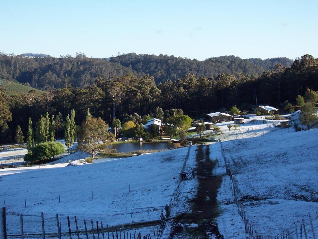
<path id="1" fill-rule="evenodd" d="M 6 175 L 12 172 L 9 169 L 0 169 L 4 175 L 0 181 L 0 206 L 5 199 L 7 213 L 11 214 L 7 217 L 8 234 L 18 230 L 12 224 L 19 220 L 15 216 L 19 213 L 26 215 L 25 230 L 37 227 L 40 231 L 38 216 L 42 211 L 47 221 L 54 221 L 58 213 L 64 220 L 64 231 L 67 231 L 65 217 L 74 215 L 78 220 L 93 219 L 103 221 L 104 225 L 131 223 L 132 208 L 168 204 L 187 150 L 180 148 L 74 167 L 55 164 L 40 169 L 11 169 L 19 173 L 10 175 Z M 58 166 L 62 168 L 54 168 Z M 36 225 L 33 221 L 37 221 Z M 48 231 L 52 230 L 50 227 L 55 231 L 56 221 L 46 226 Z"/>

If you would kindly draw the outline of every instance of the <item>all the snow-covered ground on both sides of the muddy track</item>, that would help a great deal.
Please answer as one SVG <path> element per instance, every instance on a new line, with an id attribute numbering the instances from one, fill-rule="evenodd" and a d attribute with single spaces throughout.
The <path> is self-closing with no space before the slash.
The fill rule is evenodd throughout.
<path id="1" fill-rule="evenodd" d="M 296 125 L 300 123 L 298 112 L 285 117 L 291 117 Z M 304 218 L 309 239 L 312 234 L 308 212 L 313 226 L 318 228 L 318 129 L 294 132 L 294 127 L 274 127 L 279 123 L 280 120 L 252 116 L 237 129 L 244 138 L 236 140 L 236 132 L 231 129 L 229 135 L 232 136 L 221 135 L 222 146 L 234 175 L 237 196 L 244 203 L 253 229 L 267 236 L 284 230 L 291 232 L 294 223 L 299 227 Z M 229 124 L 233 121 L 218 126 L 228 132 Z M 190 150 L 185 170 L 196 167 L 196 147 Z M 216 160 L 218 166 L 224 165 L 220 143 L 209 147 L 210 159 Z M 25 149 L 12 152 L 23 154 L 19 150 Z M 48 232 L 56 232 L 56 213 L 62 221 L 63 232 L 68 230 L 66 216 L 71 217 L 72 230 L 74 215 L 80 229 L 83 229 L 83 219 L 89 228 L 91 219 L 103 221 L 104 226 L 131 223 L 131 209 L 164 206 L 169 202 L 187 150 L 181 148 L 77 166 L 88 155 L 76 152 L 55 162 L 58 164 L 0 169 L 0 207 L 5 199 L 8 234 L 18 233 L 19 228 L 12 225 L 19 221 L 19 213 L 24 214 L 25 230 L 37 233 L 41 233 L 42 211 Z M 4 153 L 12 154 L 2 153 L 0 159 L 5 157 Z M 66 167 L 69 159 L 75 161 L 72 164 L 75 166 Z M 197 179 L 181 182 L 173 217 L 192 210 L 189 201 L 196 196 L 197 189 Z M 215 220 L 220 233 L 224 238 L 246 238 L 244 223 L 233 203 L 232 183 L 226 175 L 222 177 L 217 199 L 219 216 Z M 169 223 L 162 238 L 169 238 Z M 153 228 L 156 226 L 136 226 L 130 227 L 129 232 L 150 233 Z"/>

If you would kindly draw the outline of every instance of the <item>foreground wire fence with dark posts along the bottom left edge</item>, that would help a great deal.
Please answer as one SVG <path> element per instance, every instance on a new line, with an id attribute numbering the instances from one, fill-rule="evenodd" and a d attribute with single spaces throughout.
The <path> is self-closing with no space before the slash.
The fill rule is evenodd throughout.
<path id="1" fill-rule="evenodd" d="M 160 217 L 159 217 L 160 220 Z M 66 216 L 44 215 L 6 215 L 6 236 L 5 238 L 151 238 L 150 233 L 154 232 L 153 238 L 158 238 L 158 228 L 151 228 L 149 234 L 141 235 L 131 229 L 131 225 L 108 226 L 102 221 Z"/>

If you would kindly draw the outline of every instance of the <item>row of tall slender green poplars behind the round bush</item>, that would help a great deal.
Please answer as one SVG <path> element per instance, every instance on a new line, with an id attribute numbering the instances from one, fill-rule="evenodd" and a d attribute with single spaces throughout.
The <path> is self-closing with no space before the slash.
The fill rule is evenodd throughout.
<path id="1" fill-rule="evenodd" d="M 75 142 L 77 134 L 77 128 L 75 125 L 75 111 L 71 110 L 70 115 L 67 114 L 66 122 L 64 124 L 64 138 L 67 150 L 71 148 Z M 55 141 L 55 120 L 54 115 L 49 116 L 46 112 L 45 116 L 41 115 L 41 118 L 36 123 L 35 131 L 32 127 L 32 120 L 29 117 L 29 125 L 26 133 L 26 147 L 30 151 L 31 147 L 38 143 L 43 143 L 47 141 Z"/>

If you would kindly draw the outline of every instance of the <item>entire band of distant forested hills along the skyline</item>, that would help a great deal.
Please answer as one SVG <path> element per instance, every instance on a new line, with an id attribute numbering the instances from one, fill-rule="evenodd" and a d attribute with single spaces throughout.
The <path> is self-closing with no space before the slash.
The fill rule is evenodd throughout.
<path id="1" fill-rule="evenodd" d="M 236 77 L 259 76 L 264 70 L 273 69 L 278 63 L 283 67 L 289 67 L 292 61 L 284 57 L 261 60 L 241 59 L 235 56 L 198 61 L 162 54 L 156 56 L 135 53 L 122 54 L 110 59 L 89 58 L 82 53 L 77 53 L 75 57 L 66 55 L 56 58 L 44 54 L 13 55 L 0 52 L 0 78 L 29 83 L 31 87 L 47 90 L 63 88 L 66 84 L 84 88 L 93 85 L 98 75 L 108 79 L 128 73 L 135 76 L 149 74 L 155 78 L 156 83 L 176 81 L 187 73 L 207 78 L 216 78 L 221 73 Z"/>

